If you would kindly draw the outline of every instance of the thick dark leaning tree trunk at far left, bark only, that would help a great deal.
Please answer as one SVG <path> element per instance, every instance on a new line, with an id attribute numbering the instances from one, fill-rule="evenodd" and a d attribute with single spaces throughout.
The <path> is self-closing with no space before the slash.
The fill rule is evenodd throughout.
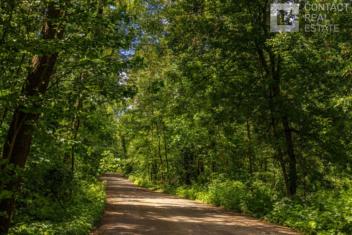
<path id="1" fill-rule="evenodd" d="M 61 10 L 58 8 L 56 3 L 52 2 L 51 5 L 48 4 L 46 18 L 57 19 L 59 17 L 61 17 Z M 42 29 L 43 40 L 54 38 L 61 40 L 63 37 L 63 32 L 64 27 L 62 25 L 58 26 L 56 24 L 52 24 L 51 20 L 45 20 Z M 45 95 L 57 56 L 57 52 L 54 54 L 48 52 L 48 54 L 33 56 L 32 68 L 27 73 L 27 77 L 21 91 L 22 94 L 25 93 L 25 97 L 38 96 L 39 94 Z M 38 105 L 35 105 L 34 107 L 36 109 L 39 108 Z M 33 132 L 34 126 L 31 124 L 25 124 L 25 122 L 37 122 L 39 113 L 26 113 L 21 111 L 21 109 L 26 109 L 26 107 L 18 104 L 15 108 L 6 141 L 2 149 L 1 159 L 8 159 L 7 163 L 0 167 L 2 172 L 5 168 L 7 168 L 8 164 L 14 164 L 14 166 L 24 168 L 27 161 L 32 142 L 32 135 L 30 133 L 25 134 L 25 132 Z M 15 172 L 9 171 L 8 174 L 12 177 L 15 175 Z M 10 181 L 6 185 L 1 186 L 1 191 L 8 190 L 17 192 L 19 183 L 19 178 L 17 178 L 17 180 Z M 14 205 L 14 197 L 3 199 L 0 202 L 1 211 L 6 211 L 8 215 L 7 218 L 5 216 L 0 216 L 0 224 L 2 226 L 2 228 L 0 228 L 0 234 L 8 233 Z"/>

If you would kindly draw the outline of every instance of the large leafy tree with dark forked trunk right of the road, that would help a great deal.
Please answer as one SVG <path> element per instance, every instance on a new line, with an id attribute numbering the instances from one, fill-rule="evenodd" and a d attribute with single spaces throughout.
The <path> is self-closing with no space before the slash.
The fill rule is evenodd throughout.
<path id="1" fill-rule="evenodd" d="M 181 156 L 189 153 L 186 147 L 196 153 L 201 149 L 206 156 L 216 153 L 216 171 L 236 177 L 243 171 L 266 172 L 267 165 L 263 168 L 260 162 L 270 160 L 273 171 L 281 171 L 275 177 L 282 177 L 282 188 L 291 196 L 307 190 L 308 178 L 311 187 L 328 186 L 329 174 L 310 168 L 350 162 L 350 150 L 342 144 L 350 141 L 342 128 L 350 121 L 337 103 L 350 91 L 345 82 L 350 74 L 349 39 L 344 36 L 350 29 L 270 32 L 269 5 L 268 1 L 159 5 L 166 20 L 164 47 L 158 55 L 173 60 L 169 68 L 158 70 L 165 81 L 158 96 L 169 97 L 158 100 L 158 106 L 167 110 L 164 120 L 169 122 L 176 168 L 184 165 Z M 301 4 L 301 12 L 303 8 Z M 347 12 L 328 14 L 332 22 L 348 25 Z M 282 19 L 281 23 L 289 23 Z M 134 79 L 137 84 L 141 81 L 141 76 Z M 139 99 L 144 98 L 140 94 Z M 205 144 L 205 132 L 211 144 Z M 214 145 L 212 140 L 218 141 Z M 193 164 L 189 155 L 186 158 Z M 211 165 L 208 169 L 213 172 Z M 183 169 L 186 179 L 192 171 Z"/>

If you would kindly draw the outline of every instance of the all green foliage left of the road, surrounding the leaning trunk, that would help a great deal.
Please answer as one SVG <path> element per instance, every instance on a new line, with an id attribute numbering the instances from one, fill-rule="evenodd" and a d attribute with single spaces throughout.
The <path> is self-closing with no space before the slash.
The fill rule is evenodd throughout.
<path id="1" fill-rule="evenodd" d="M 121 1 L 0 5 L 0 140 L 11 145 L 0 159 L 0 219 L 12 218 L 11 234 L 87 234 L 106 200 L 98 181 L 120 164 L 115 107 L 138 91 L 124 75 L 146 68 L 144 58 L 129 54 L 140 33 L 137 17 Z M 52 25 L 57 32 L 48 32 Z M 39 93 L 28 95 L 31 86 Z M 9 136 L 29 138 L 12 148 Z M 11 215 L 5 200 L 14 198 Z"/>

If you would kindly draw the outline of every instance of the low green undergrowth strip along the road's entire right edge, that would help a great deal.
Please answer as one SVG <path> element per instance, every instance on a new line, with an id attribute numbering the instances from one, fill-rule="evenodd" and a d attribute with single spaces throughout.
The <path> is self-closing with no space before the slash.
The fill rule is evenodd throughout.
<path id="1" fill-rule="evenodd" d="M 352 185 L 347 179 L 339 190 L 285 197 L 261 180 L 230 180 L 225 174 L 218 175 L 208 184 L 178 186 L 154 183 L 133 173 L 125 176 L 143 187 L 231 209 L 305 234 L 352 233 Z"/>

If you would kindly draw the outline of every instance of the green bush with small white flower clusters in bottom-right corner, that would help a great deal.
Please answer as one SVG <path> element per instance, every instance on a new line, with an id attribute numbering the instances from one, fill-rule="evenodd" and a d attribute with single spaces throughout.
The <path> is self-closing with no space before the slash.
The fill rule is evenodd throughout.
<path id="1" fill-rule="evenodd" d="M 284 197 L 263 219 L 313 234 L 352 234 L 352 189 Z"/>

